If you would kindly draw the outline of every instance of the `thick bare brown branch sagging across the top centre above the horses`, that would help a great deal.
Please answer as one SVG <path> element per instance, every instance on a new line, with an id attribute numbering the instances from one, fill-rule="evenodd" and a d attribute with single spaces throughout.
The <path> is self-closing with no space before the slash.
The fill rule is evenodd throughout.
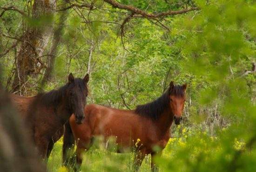
<path id="1" fill-rule="evenodd" d="M 133 7 L 133 6 L 120 4 L 119 2 L 117 2 L 115 0 L 104 0 L 104 1 L 107 2 L 108 4 L 112 5 L 113 7 L 128 10 L 128 11 L 131 11 L 131 12 L 137 14 L 137 15 L 135 15 L 135 17 L 143 17 L 143 18 L 151 18 L 151 19 L 168 16 L 168 15 L 188 13 L 189 11 L 194 11 L 194 10 L 200 9 L 198 7 L 190 7 L 190 8 L 186 8 L 186 9 L 182 9 L 182 10 L 177 10 L 177 11 L 169 10 L 166 12 L 153 14 L 153 13 L 146 13 L 145 11 L 143 11 L 139 8 Z"/>

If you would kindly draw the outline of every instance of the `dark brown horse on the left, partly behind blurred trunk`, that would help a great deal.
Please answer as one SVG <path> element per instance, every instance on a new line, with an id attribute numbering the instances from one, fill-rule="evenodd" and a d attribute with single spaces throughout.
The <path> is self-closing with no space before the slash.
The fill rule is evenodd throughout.
<path id="1" fill-rule="evenodd" d="M 58 90 L 39 93 L 32 97 L 11 94 L 13 105 L 22 115 L 30 130 L 39 155 L 45 159 L 52 139 L 61 136 L 62 128 L 74 113 L 77 125 L 84 120 L 84 106 L 88 95 L 88 74 L 83 78 L 68 75 L 68 82 Z M 56 138 L 59 139 L 59 138 Z M 52 148 L 51 148 L 52 149 Z"/>

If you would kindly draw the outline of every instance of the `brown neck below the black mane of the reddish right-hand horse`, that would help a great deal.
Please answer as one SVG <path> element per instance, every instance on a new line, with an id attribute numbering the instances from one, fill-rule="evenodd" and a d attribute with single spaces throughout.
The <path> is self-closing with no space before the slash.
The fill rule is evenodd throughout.
<path id="1" fill-rule="evenodd" d="M 173 114 L 169 108 L 167 108 L 162 114 L 160 115 L 159 119 L 155 121 L 156 125 L 160 129 L 161 133 L 169 132 L 169 129 L 173 122 Z"/>

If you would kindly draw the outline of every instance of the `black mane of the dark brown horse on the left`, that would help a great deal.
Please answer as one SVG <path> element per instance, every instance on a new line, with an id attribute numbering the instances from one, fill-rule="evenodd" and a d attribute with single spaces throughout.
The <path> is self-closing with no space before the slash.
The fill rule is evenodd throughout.
<path id="1" fill-rule="evenodd" d="M 61 102 L 63 96 L 65 96 L 68 88 L 78 86 L 81 90 L 87 89 L 87 85 L 84 83 L 83 79 L 75 78 L 74 83 L 67 83 L 64 86 L 61 86 L 58 90 L 52 90 L 47 93 L 39 93 L 37 95 L 40 103 L 46 106 L 58 106 Z"/>

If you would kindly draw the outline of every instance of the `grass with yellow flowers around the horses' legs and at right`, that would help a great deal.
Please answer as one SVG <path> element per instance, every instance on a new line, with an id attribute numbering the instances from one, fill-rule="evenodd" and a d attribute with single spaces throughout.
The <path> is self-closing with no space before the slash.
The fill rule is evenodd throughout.
<path id="1" fill-rule="evenodd" d="M 223 128 L 221 132 L 226 132 Z M 218 161 L 218 157 L 229 155 L 233 150 L 243 150 L 245 143 L 240 139 L 229 141 L 228 147 L 221 142 L 220 136 L 211 135 L 210 132 L 202 131 L 185 126 L 172 128 L 172 138 L 162 152 L 162 157 L 156 159 L 160 172 L 184 172 L 195 170 L 200 164 L 200 159 L 219 164 L 227 162 Z M 229 148 L 230 147 L 230 148 Z M 67 172 L 68 169 L 61 165 L 62 139 L 54 145 L 54 149 L 48 159 L 48 170 L 50 172 Z M 218 155 L 218 156 L 217 156 Z M 81 165 L 82 172 L 132 172 L 134 153 L 115 153 L 104 148 L 103 144 L 95 144 L 83 155 Z M 199 161 L 200 160 L 200 161 Z M 202 161 L 202 164 L 204 161 Z M 151 157 L 148 155 L 142 162 L 140 172 L 150 172 Z M 202 165 L 208 167 L 207 165 Z M 196 167 L 197 168 L 197 167 Z M 209 168 L 206 168 L 209 169 Z M 205 169 L 201 169 L 204 171 Z M 72 170 L 70 170 L 72 171 Z"/>

